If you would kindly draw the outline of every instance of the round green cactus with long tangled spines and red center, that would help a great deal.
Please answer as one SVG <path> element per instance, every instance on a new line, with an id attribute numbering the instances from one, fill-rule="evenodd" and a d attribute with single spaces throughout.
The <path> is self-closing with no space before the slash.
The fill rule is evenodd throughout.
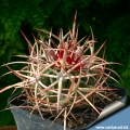
<path id="1" fill-rule="evenodd" d="M 118 82 L 110 76 L 112 73 L 118 74 L 108 67 L 115 63 L 98 56 L 105 43 L 94 51 L 96 41 L 92 29 L 91 36 L 78 40 L 76 17 L 73 29 L 65 35 L 63 29 L 56 36 L 52 30 L 37 28 L 40 39 L 34 37 L 34 44 L 22 32 L 28 42 L 29 55 L 17 55 L 26 61 L 3 65 L 10 69 L 3 76 L 13 73 L 22 81 L 0 90 L 1 93 L 11 88 L 22 88 L 25 105 L 31 108 L 31 113 L 39 113 L 43 119 L 49 115 L 53 119 L 50 127 L 56 121 L 64 126 L 64 130 L 87 125 L 88 113 L 93 118 L 98 117 L 103 108 L 96 104 L 112 102 L 110 95 L 116 91 L 108 87 L 107 79 Z M 42 32 L 48 37 L 43 38 Z M 24 64 L 24 67 L 14 70 L 11 64 Z"/>

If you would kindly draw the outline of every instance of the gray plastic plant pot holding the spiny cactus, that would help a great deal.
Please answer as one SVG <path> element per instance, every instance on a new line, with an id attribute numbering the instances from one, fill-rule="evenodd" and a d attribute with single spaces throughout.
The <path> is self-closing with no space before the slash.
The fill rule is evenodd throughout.
<path id="1" fill-rule="evenodd" d="M 121 108 L 122 106 L 125 106 L 126 101 L 127 101 L 127 90 L 125 88 L 119 88 L 119 87 L 114 87 L 110 86 L 110 88 L 118 88 L 118 95 L 121 95 L 121 100 L 120 101 L 115 101 L 112 102 L 110 104 L 108 104 L 101 113 L 101 115 L 98 117 L 96 120 L 94 120 L 93 122 L 89 123 L 87 127 L 84 128 L 80 128 L 77 130 L 86 130 L 89 127 L 91 127 L 94 122 L 99 121 L 100 119 L 104 118 L 107 115 L 110 115 L 112 113 L 118 110 L 119 108 Z M 10 103 L 11 100 L 15 96 L 17 96 L 18 94 L 15 94 L 13 96 L 11 96 L 8 102 Z M 15 101 L 11 102 L 10 107 L 14 107 L 16 105 Z M 50 123 L 52 122 L 51 120 L 42 120 L 42 118 L 39 115 L 35 115 L 25 110 L 23 108 L 11 108 L 11 112 L 14 116 L 16 126 L 17 126 L 17 130 L 48 130 L 48 127 L 50 126 Z M 50 128 L 50 130 L 63 130 L 63 126 L 54 122 L 53 126 Z M 69 129 L 67 128 L 67 130 L 74 130 L 74 129 Z M 75 129 L 76 130 L 76 129 Z"/>

